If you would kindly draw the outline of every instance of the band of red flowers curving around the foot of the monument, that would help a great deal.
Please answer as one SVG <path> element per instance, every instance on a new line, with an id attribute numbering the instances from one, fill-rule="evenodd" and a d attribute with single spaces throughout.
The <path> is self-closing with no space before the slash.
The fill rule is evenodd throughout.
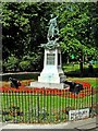
<path id="1" fill-rule="evenodd" d="M 58 88 L 39 88 L 39 87 L 34 87 L 29 88 L 24 85 L 20 86 L 17 90 L 14 87 L 0 87 L 0 92 L 4 93 L 34 93 L 34 94 L 45 94 L 45 95 L 58 95 L 62 97 L 70 97 L 70 98 L 78 98 L 78 97 L 85 97 L 88 95 L 91 95 L 93 93 L 93 87 L 90 86 L 89 83 L 82 82 L 82 81 L 76 81 L 76 83 L 83 84 L 84 90 L 81 91 L 78 94 L 74 94 L 69 92 L 70 88 L 64 88 L 64 90 L 58 90 Z"/>

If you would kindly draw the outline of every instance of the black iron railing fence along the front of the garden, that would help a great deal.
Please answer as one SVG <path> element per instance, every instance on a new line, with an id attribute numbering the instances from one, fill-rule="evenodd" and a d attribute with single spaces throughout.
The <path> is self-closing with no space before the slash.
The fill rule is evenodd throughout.
<path id="1" fill-rule="evenodd" d="M 93 109 L 93 88 L 83 90 L 79 94 L 66 90 L 40 88 L 37 91 L 1 92 L 2 122 L 15 123 L 51 123 L 69 120 L 69 111 Z"/>

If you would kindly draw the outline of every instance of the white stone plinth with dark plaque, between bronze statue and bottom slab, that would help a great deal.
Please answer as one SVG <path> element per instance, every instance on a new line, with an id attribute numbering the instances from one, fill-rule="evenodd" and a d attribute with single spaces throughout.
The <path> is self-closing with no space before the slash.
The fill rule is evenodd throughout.
<path id="1" fill-rule="evenodd" d="M 61 50 L 45 49 L 44 69 L 38 76 L 39 83 L 56 83 L 60 84 L 65 80 L 62 71 Z"/>

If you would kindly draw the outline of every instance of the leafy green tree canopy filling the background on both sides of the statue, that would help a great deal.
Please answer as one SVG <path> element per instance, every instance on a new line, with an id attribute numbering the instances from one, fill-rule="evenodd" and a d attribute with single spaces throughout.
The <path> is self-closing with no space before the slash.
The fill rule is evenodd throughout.
<path id="1" fill-rule="evenodd" d="M 5 2 L 2 3 L 4 68 L 9 62 L 16 64 L 19 61 L 19 69 L 24 64 L 29 67 L 28 70 L 41 69 L 44 49 L 39 46 L 47 43 L 51 13 L 58 15 L 64 62 L 70 60 L 72 55 L 75 60 L 78 60 L 81 55 L 88 60 L 97 60 L 98 2 Z M 14 57 L 14 60 L 11 57 Z"/>

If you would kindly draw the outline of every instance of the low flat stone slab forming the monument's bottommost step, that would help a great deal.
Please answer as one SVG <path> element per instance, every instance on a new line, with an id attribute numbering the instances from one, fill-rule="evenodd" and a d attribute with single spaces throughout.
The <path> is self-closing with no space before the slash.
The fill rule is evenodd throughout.
<path id="1" fill-rule="evenodd" d="M 58 88 L 63 90 L 66 88 L 68 85 L 64 83 L 41 83 L 41 82 L 30 82 L 29 87 L 45 87 L 45 88 Z"/>

